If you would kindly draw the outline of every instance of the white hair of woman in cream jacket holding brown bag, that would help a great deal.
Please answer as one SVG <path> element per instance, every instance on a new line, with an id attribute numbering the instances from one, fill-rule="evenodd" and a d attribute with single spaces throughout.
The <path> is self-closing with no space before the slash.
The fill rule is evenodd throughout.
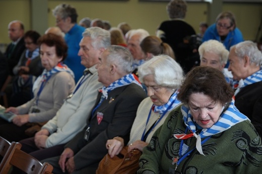
<path id="1" fill-rule="evenodd" d="M 144 77 L 153 75 L 155 82 L 165 88 L 177 89 L 183 79 L 181 66 L 168 55 L 158 55 L 146 61 L 138 68 L 139 79 L 143 83 Z"/>

